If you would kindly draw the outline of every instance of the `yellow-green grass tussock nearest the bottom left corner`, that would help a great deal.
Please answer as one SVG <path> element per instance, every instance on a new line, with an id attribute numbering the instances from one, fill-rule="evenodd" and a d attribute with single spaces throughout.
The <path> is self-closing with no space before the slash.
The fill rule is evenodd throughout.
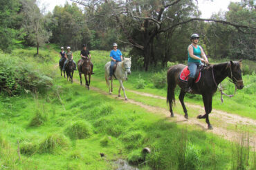
<path id="1" fill-rule="evenodd" d="M 54 153 L 57 149 L 65 149 L 68 146 L 68 139 L 64 135 L 50 134 L 39 144 L 39 151 L 42 153 Z"/>

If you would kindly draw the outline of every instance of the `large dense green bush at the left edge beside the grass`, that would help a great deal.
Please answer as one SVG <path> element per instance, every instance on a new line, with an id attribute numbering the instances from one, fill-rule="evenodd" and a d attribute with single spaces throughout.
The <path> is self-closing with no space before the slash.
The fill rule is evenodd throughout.
<path id="1" fill-rule="evenodd" d="M 52 78 L 35 69 L 35 65 L 38 63 L 0 54 L 0 92 L 15 95 L 23 89 L 38 92 L 51 87 Z"/>

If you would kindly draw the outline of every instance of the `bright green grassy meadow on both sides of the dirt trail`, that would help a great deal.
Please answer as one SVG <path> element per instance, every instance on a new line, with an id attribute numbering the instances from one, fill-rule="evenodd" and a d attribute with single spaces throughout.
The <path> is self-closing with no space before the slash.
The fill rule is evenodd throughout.
<path id="1" fill-rule="evenodd" d="M 11 63 L 10 58 L 19 61 L 19 65 L 8 67 L 8 71 L 21 69 L 28 82 L 33 80 L 22 89 L 14 83 L 17 79 L 12 78 L 8 87 L 15 89 L 16 94 L 8 90 L 1 92 L 0 169 L 118 169 L 119 159 L 127 160 L 138 169 L 256 168 L 255 151 L 246 143 L 239 145 L 202 131 L 196 125 L 176 124 L 137 105 L 88 91 L 84 78 L 82 86 L 72 84 L 60 76 L 56 67 L 57 47 L 46 45 L 40 52 L 40 56 L 34 56 L 35 48 L 28 48 L 0 55 L 0 64 L 6 60 Z M 79 54 L 74 52 L 76 62 Z M 95 65 L 91 86 L 107 92 L 104 64 L 109 61 L 109 52 L 91 51 L 91 55 Z M 0 74 L 4 71 L 0 69 Z M 124 85 L 127 89 L 165 97 L 166 85 L 156 88 L 152 78 L 156 78 L 155 74 L 163 76 L 166 71 L 134 71 L 131 67 L 131 75 Z M 79 80 L 77 71 L 74 78 Z M 243 78 L 244 89 L 237 91 L 233 98 L 224 97 L 223 104 L 219 93 L 215 94 L 213 108 L 255 119 L 256 76 L 253 73 Z M 42 83 L 46 80 L 47 84 Z M 117 81 L 114 86 L 113 94 L 118 94 Z M 37 90 L 33 92 L 35 87 Z M 228 81 L 223 82 L 223 87 L 227 93 L 235 89 Z M 127 97 L 167 108 L 162 99 L 129 91 Z M 185 101 L 203 105 L 200 96 L 188 95 Z M 181 107 L 174 110 L 183 114 Z M 189 111 L 190 116 L 196 116 L 196 111 Z M 241 131 L 237 138 L 246 141 L 246 136 L 248 134 Z M 149 147 L 151 153 L 143 153 L 145 147 Z"/>

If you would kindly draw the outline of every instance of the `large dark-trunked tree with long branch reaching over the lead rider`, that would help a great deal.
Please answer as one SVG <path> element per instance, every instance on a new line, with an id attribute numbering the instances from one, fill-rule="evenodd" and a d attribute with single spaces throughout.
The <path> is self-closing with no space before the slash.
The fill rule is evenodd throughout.
<path id="1" fill-rule="evenodd" d="M 109 17 L 116 22 L 121 32 L 125 34 L 129 45 L 140 51 L 143 55 L 145 70 L 155 63 L 156 53 L 154 41 L 158 36 L 172 37 L 175 30 L 192 21 L 214 21 L 232 25 L 238 29 L 248 28 L 228 21 L 216 19 L 201 19 L 200 12 L 196 10 L 195 1 L 191 0 L 71 0 L 84 5 L 92 11 L 92 18 Z M 190 32 L 191 34 L 191 32 Z M 170 50 L 166 48 L 165 50 Z M 170 52 L 167 52 L 170 53 Z M 166 55 L 165 55 L 166 56 Z M 161 57 L 166 62 L 166 57 Z"/>

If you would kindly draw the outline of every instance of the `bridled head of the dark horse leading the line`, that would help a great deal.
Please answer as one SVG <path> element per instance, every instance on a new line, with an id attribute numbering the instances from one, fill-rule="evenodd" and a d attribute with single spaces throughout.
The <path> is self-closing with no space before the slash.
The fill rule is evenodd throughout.
<path id="1" fill-rule="evenodd" d="M 240 61 L 230 61 L 230 72 L 228 77 L 235 84 L 237 89 L 242 89 L 244 87 L 243 79 L 241 78 L 241 60 Z"/>

